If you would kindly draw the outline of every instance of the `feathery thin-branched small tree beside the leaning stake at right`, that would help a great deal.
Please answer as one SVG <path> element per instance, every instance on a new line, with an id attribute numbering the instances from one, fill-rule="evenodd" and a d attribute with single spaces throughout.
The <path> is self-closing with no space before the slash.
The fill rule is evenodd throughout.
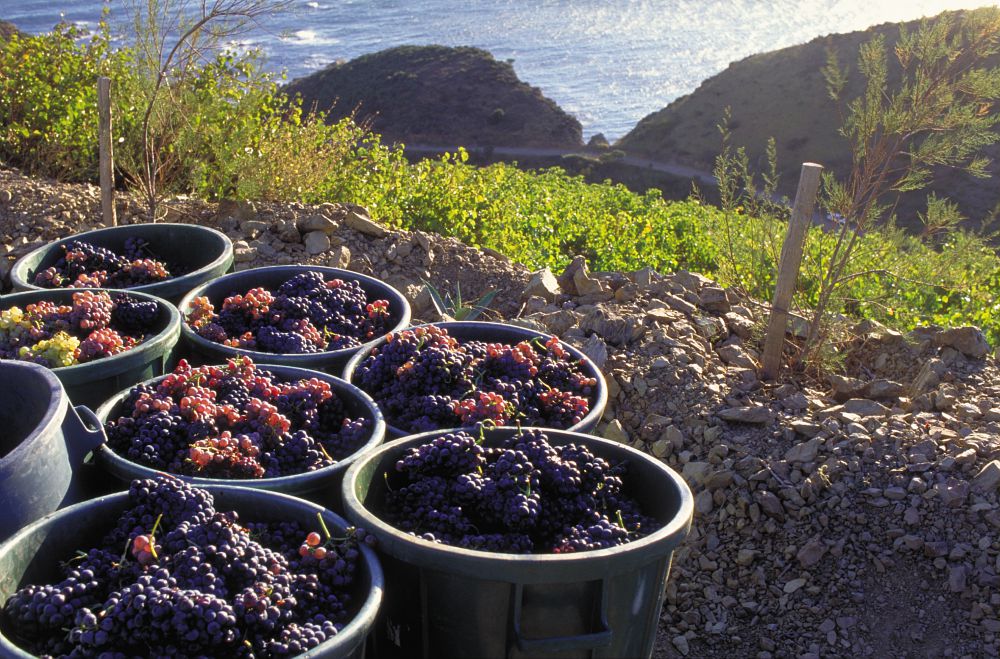
<path id="1" fill-rule="evenodd" d="M 819 297 L 800 361 L 821 342 L 830 301 L 851 279 L 888 275 L 885 270 L 854 271 L 850 265 L 859 237 L 892 215 L 899 194 L 923 189 L 935 167 L 964 169 L 986 178 L 989 161 L 983 147 L 997 142 L 992 112 L 1000 98 L 1000 67 L 983 68 L 1000 52 L 1000 10 L 950 12 L 924 20 L 908 32 L 900 29 L 894 54 L 900 82 L 889 88 L 889 58 L 878 36 L 862 45 L 858 68 L 865 90 L 842 105 L 840 133 L 850 142 L 852 167 L 843 181 L 824 175 L 823 205 L 840 222 L 837 240 L 824 260 Z M 841 103 L 848 80 L 832 52 L 823 75 L 831 99 Z M 889 198 L 895 196 L 890 203 Z M 931 196 L 921 219 L 925 234 L 953 228 L 959 221 L 953 204 Z"/>

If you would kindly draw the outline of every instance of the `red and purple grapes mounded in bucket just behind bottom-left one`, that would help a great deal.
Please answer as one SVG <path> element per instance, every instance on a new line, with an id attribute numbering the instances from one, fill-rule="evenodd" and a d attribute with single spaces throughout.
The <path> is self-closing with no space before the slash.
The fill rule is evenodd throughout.
<path id="1" fill-rule="evenodd" d="M 203 478 L 275 478 L 315 471 L 357 451 L 372 420 L 350 417 L 318 378 L 283 381 L 246 358 L 181 361 L 156 386 L 134 387 L 105 424 L 133 462 Z"/>

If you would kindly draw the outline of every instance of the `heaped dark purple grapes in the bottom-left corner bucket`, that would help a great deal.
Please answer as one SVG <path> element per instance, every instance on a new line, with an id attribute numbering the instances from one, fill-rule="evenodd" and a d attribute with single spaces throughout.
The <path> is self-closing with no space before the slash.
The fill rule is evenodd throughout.
<path id="1" fill-rule="evenodd" d="M 350 621 L 364 537 L 243 523 L 177 479 L 137 480 L 97 547 L 11 595 L 4 627 L 36 655 L 292 656 Z"/>

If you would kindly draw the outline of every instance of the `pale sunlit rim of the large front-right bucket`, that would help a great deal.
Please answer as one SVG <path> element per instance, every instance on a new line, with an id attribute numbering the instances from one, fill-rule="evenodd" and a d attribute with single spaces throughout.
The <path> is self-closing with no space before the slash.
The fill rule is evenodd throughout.
<path id="1" fill-rule="evenodd" d="M 344 476 L 344 511 L 351 518 L 356 517 L 357 520 L 355 521 L 359 525 L 363 525 L 370 531 L 377 533 L 379 545 L 387 553 L 395 555 L 391 550 L 402 548 L 402 552 L 408 554 L 408 557 L 404 560 L 409 561 L 413 557 L 414 560 L 412 562 L 419 562 L 422 566 L 439 568 L 447 572 L 479 579 L 487 576 L 492 579 L 504 580 L 506 572 L 527 570 L 529 567 L 543 568 L 542 574 L 536 575 L 538 578 L 530 579 L 530 581 L 535 582 L 561 581 L 581 575 L 597 575 L 599 577 L 607 569 L 608 560 L 611 558 L 620 559 L 623 554 L 630 554 L 631 560 L 628 562 L 628 565 L 619 566 L 622 570 L 628 569 L 634 564 L 641 564 L 662 556 L 665 544 L 670 544 L 669 550 L 673 551 L 676 545 L 687 535 L 694 514 L 694 497 L 691 494 L 690 488 L 673 469 L 663 465 L 651 456 L 624 444 L 567 430 L 537 429 L 544 431 L 549 436 L 555 435 L 580 443 L 596 443 L 599 446 L 613 447 L 612 450 L 623 453 L 629 460 L 642 461 L 655 466 L 657 471 L 662 473 L 664 478 L 668 479 L 670 489 L 677 496 L 676 512 L 662 527 L 648 536 L 616 547 L 569 554 L 505 554 L 501 552 L 465 549 L 463 547 L 431 542 L 430 540 L 412 536 L 378 517 L 358 498 L 356 494 L 357 482 L 363 469 L 369 465 L 377 467 L 382 460 L 388 458 L 393 453 L 410 446 L 418 445 L 434 437 L 462 430 L 461 428 L 432 430 L 430 432 L 403 437 L 385 443 L 365 455 L 362 459 L 357 460 L 348 468 Z M 487 437 L 489 437 L 491 432 L 510 433 L 516 431 L 518 431 L 517 428 L 499 427 L 493 431 L 489 431 Z M 495 574 L 484 575 L 484 560 L 493 563 L 493 566 L 496 567 Z M 518 574 L 517 576 L 524 582 L 529 581 L 529 579 L 523 578 L 524 574 Z M 517 581 L 518 579 L 511 580 Z"/>

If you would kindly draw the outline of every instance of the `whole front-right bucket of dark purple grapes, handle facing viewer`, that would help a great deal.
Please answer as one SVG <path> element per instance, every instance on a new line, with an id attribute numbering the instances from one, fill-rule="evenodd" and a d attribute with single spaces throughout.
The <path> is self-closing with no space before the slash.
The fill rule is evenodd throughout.
<path id="1" fill-rule="evenodd" d="M 348 470 L 344 505 L 383 559 L 385 657 L 649 656 L 694 510 L 651 456 L 543 428 L 385 444 Z"/>

